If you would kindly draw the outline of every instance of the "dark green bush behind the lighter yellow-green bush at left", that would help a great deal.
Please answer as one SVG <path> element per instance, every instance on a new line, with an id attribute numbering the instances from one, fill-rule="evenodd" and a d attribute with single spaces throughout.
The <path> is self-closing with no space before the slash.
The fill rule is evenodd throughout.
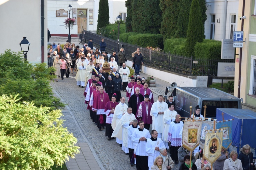
<path id="1" fill-rule="evenodd" d="M 21 52 L 7 50 L 0 54 L 0 72 L 0 95 L 19 94 L 22 100 L 33 101 L 37 107 L 60 109 L 65 106 L 53 96 L 49 79 L 54 78 L 50 75 L 54 68 L 47 68 L 46 63 L 32 65 L 24 62 Z"/>

